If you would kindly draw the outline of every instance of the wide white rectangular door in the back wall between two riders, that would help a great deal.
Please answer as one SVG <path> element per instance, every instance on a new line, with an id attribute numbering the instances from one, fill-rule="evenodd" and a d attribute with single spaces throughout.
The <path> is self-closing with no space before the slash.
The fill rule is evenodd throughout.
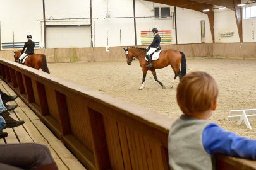
<path id="1" fill-rule="evenodd" d="M 46 26 L 46 47 L 90 47 L 90 26 Z"/>

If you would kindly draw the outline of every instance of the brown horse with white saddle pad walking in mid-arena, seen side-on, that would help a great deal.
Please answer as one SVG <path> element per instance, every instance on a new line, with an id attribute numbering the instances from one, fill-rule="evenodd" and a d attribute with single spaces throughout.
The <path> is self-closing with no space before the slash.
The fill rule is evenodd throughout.
<path id="1" fill-rule="evenodd" d="M 140 67 L 142 67 L 143 77 L 142 77 L 142 86 L 138 89 L 144 88 L 144 82 L 146 79 L 147 71 L 151 70 L 155 81 L 157 81 L 161 86 L 162 89 L 166 88 L 162 82 L 160 82 L 157 79 L 157 75 L 155 72 L 155 69 L 162 69 L 164 67 L 167 67 L 168 65 L 171 65 L 171 68 L 174 71 L 174 78 L 171 82 L 171 88 L 173 87 L 174 81 L 177 76 L 180 77 L 180 79 L 186 75 L 186 57 L 183 52 L 178 52 L 177 50 L 162 50 L 162 52 L 159 55 L 158 60 L 152 61 L 153 67 L 147 67 L 147 60 L 145 60 L 145 54 L 147 50 L 145 48 L 137 48 L 137 47 L 128 47 L 127 49 L 123 48 L 125 50 L 125 56 L 127 59 L 127 64 L 131 65 L 131 62 L 136 58 L 140 62 Z M 180 70 L 180 64 L 181 64 L 181 70 Z"/>

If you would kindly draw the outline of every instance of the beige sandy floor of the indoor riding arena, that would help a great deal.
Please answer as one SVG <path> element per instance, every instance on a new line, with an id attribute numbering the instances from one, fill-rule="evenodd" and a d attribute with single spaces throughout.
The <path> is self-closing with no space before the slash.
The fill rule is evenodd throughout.
<path id="1" fill-rule="evenodd" d="M 237 120 L 226 120 L 230 110 L 256 108 L 256 60 L 227 58 L 187 59 L 188 72 L 206 71 L 216 79 L 219 86 L 217 110 L 210 118 L 224 129 L 239 135 L 256 139 L 256 119 L 251 119 L 252 130 L 245 125 L 236 125 Z M 148 72 L 145 88 L 138 91 L 142 83 L 142 69 L 138 60 L 130 66 L 122 62 L 80 62 L 49 64 L 51 74 L 63 77 L 83 86 L 102 91 L 134 105 L 143 106 L 159 114 L 178 118 L 181 115 L 176 103 L 176 87 L 169 88 L 174 72 L 171 67 L 157 70 L 159 81 L 154 81 Z"/>

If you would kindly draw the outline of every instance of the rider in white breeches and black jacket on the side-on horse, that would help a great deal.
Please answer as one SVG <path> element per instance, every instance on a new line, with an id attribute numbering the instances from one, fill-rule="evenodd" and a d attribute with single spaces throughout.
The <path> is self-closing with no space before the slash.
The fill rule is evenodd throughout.
<path id="1" fill-rule="evenodd" d="M 149 49 L 149 51 L 147 52 L 147 58 L 149 59 L 147 67 L 153 67 L 151 54 L 153 54 L 155 50 L 157 50 L 157 48 L 160 48 L 160 42 L 161 42 L 161 37 L 158 35 L 157 28 L 153 28 L 152 32 L 155 36 L 154 36 L 153 42 L 149 45 L 149 47 L 147 47 L 147 49 Z"/>

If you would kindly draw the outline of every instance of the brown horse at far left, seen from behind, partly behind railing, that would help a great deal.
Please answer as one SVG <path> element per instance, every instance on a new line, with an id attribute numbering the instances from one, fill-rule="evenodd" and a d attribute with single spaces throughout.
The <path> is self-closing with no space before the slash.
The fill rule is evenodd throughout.
<path id="1" fill-rule="evenodd" d="M 21 55 L 21 50 L 17 50 L 14 52 L 15 62 L 18 62 L 18 58 L 20 57 L 20 55 Z M 46 55 L 44 54 L 29 55 L 25 60 L 24 65 L 27 65 L 28 67 L 32 67 L 37 70 L 41 68 L 42 71 L 50 74 L 50 71 L 47 67 Z"/>

